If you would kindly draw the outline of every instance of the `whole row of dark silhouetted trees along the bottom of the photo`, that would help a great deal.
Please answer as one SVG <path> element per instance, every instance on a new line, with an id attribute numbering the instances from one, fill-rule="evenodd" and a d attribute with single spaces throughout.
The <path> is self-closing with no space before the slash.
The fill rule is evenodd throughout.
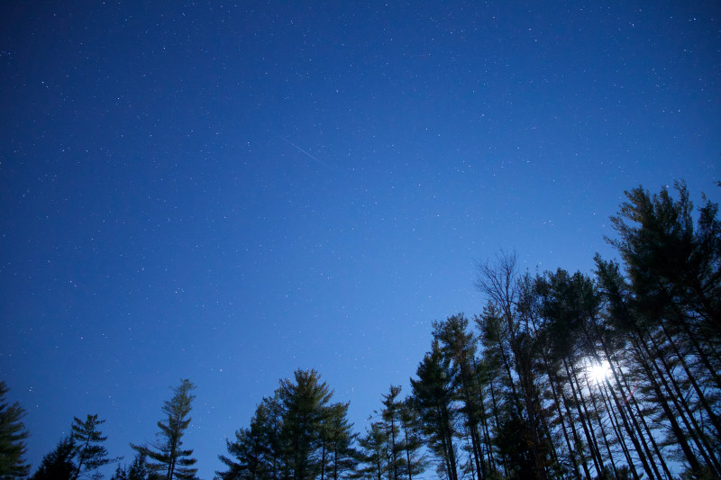
<path id="1" fill-rule="evenodd" d="M 217 477 L 721 478 L 721 222 L 706 198 L 694 222 L 686 187 L 676 190 L 626 193 L 608 240 L 621 264 L 597 256 L 592 276 L 519 272 L 507 254 L 480 264 L 483 312 L 434 322 L 410 391 L 391 385 L 363 432 L 315 370 L 281 380 L 226 441 Z M 195 478 L 181 441 L 192 387 L 166 403 L 160 442 L 133 445 L 114 479 Z M 11 431 L 0 478 L 27 475 L 22 409 L 0 406 Z M 33 478 L 115 461 L 100 422 L 76 419 Z M 62 476 L 39 476 L 63 455 Z"/>

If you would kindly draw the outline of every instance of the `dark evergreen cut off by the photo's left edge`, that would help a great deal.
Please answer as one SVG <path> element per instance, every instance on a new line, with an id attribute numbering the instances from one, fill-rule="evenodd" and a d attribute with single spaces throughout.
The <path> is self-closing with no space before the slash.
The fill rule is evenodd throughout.
<path id="1" fill-rule="evenodd" d="M 7 403 L 9 391 L 0 382 L 0 479 L 28 475 L 30 466 L 25 463 L 25 442 L 29 434 L 23 425 L 25 411 L 20 403 Z"/>

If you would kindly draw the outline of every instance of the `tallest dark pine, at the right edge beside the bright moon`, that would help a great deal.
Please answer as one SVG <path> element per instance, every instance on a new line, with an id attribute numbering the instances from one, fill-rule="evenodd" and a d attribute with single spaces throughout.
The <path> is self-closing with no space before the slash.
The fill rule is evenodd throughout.
<path id="1" fill-rule="evenodd" d="M 718 206 L 704 198 L 694 225 L 686 186 L 675 188 L 676 199 L 665 188 L 655 195 L 642 187 L 626 192 L 612 217 L 618 238 L 609 240 L 626 278 L 600 258 L 598 277 L 609 322 L 625 334 L 643 379 L 632 401 L 642 397 L 652 405 L 655 410 L 639 408 L 662 422 L 665 442 L 688 462 L 689 475 L 721 475 L 721 222 Z M 646 438 L 662 457 L 653 433 Z"/>

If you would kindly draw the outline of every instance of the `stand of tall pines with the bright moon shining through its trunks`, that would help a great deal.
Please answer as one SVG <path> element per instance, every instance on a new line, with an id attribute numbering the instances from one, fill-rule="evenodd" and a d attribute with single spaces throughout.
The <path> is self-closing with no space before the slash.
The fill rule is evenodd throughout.
<path id="1" fill-rule="evenodd" d="M 625 274 L 479 265 L 484 311 L 434 322 L 412 379 L 439 475 L 721 477 L 721 225 L 641 187 L 612 221 Z"/>

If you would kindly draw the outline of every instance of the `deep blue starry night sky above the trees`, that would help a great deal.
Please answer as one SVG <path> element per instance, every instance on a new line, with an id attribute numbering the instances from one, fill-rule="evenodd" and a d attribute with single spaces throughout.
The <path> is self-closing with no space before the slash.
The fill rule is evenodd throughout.
<path id="1" fill-rule="evenodd" d="M 717 2 L 3 2 L 0 379 L 28 459 L 221 467 L 315 368 L 364 429 L 480 312 L 476 265 L 590 273 L 624 191 L 721 198 Z"/>

